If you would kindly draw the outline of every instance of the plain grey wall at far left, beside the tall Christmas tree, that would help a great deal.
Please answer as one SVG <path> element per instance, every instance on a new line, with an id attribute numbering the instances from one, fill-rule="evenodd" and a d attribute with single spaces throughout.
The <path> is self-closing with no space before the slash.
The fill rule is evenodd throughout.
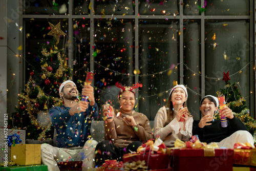
<path id="1" fill-rule="evenodd" d="M 4 114 L 14 111 L 19 91 L 19 16 L 18 0 L 1 0 L 0 7 L 0 127 L 4 126 Z M 21 67 L 22 69 L 22 67 Z M 21 72 L 22 73 L 22 72 Z M 15 74 L 15 75 L 14 75 Z M 7 91 L 8 90 L 8 91 Z"/>

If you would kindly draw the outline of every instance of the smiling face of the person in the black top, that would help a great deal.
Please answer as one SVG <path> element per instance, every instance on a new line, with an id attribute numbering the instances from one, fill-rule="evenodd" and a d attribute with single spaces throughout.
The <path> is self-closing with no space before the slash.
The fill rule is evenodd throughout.
<path id="1" fill-rule="evenodd" d="M 218 110 L 218 107 L 213 101 L 210 101 L 207 97 L 202 101 L 200 106 L 200 111 L 204 117 L 207 114 L 210 114 L 211 117 L 214 116 L 215 111 Z"/>

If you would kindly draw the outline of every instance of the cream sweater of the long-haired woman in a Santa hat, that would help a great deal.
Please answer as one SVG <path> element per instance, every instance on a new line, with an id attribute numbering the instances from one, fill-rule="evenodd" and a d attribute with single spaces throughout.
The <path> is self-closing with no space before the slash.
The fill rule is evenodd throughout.
<path id="1" fill-rule="evenodd" d="M 174 111 L 175 116 L 177 111 Z M 185 124 L 184 131 L 184 122 L 178 122 L 176 118 L 174 118 L 170 123 L 167 122 L 167 112 L 165 108 L 160 108 L 157 112 L 154 121 L 154 130 L 155 137 L 159 137 L 163 140 L 164 144 L 167 147 L 174 147 L 174 142 L 176 139 L 180 139 L 182 141 L 188 141 L 192 135 L 192 127 L 193 127 L 193 117 L 188 117 L 187 123 Z"/>

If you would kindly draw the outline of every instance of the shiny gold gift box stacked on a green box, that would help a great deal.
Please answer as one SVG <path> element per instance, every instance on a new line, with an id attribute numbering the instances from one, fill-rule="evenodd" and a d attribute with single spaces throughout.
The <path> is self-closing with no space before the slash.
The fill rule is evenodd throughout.
<path id="1" fill-rule="evenodd" d="M 11 159 L 19 165 L 41 164 L 41 144 L 15 144 Z"/>

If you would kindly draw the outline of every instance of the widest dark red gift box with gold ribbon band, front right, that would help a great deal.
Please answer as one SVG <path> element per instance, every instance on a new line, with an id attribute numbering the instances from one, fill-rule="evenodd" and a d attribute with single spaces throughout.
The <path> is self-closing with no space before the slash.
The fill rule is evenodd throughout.
<path id="1" fill-rule="evenodd" d="M 233 149 L 178 148 L 167 149 L 173 170 L 232 170 Z"/>

